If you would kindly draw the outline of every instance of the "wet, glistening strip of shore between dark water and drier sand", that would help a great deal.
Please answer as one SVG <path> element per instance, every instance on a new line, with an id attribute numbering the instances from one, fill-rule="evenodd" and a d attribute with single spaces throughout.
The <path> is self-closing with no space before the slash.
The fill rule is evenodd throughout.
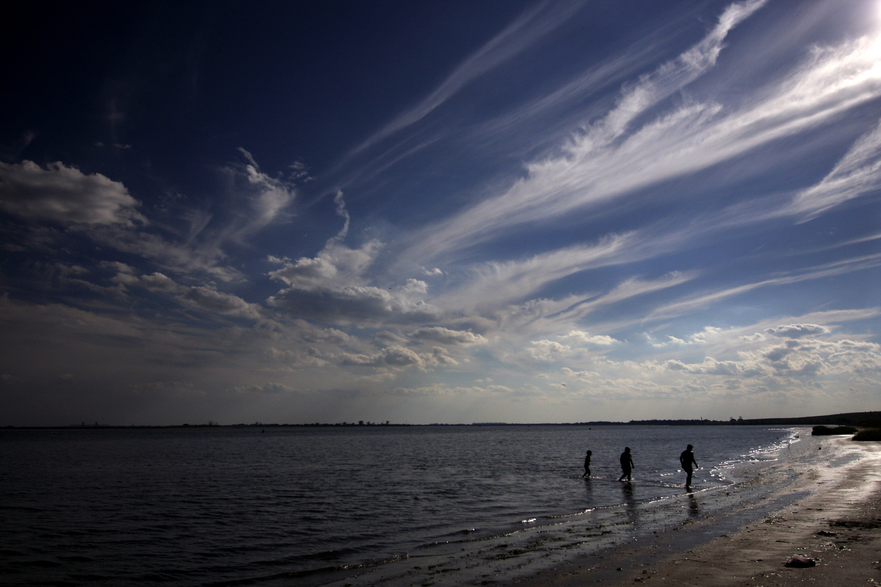
<path id="1" fill-rule="evenodd" d="M 797 438 L 799 434 L 810 434 L 810 429 L 788 429 L 786 435 L 782 432 L 784 430 L 781 437 Z M 733 532 L 751 517 L 779 510 L 793 501 L 795 498 L 782 490 L 798 480 L 798 473 L 785 463 L 810 466 L 816 456 L 805 448 L 806 444 L 811 442 L 796 440 L 778 445 L 770 452 L 757 448 L 749 453 L 751 456 L 742 455 L 741 459 L 703 469 L 704 474 L 718 475 L 725 481 L 722 485 L 706 486 L 702 483 L 708 480 L 702 480 L 693 492 L 686 493 L 679 486 L 677 492 L 648 502 L 635 498 L 629 483 L 617 482 L 614 478 L 592 478 L 593 483 L 589 483 L 594 486 L 592 490 L 620 492 L 621 503 L 592 507 L 558 517 L 556 521 L 545 521 L 543 525 L 514 529 L 486 539 L 463 536 L 463 539 L 433 543 L 426 545 L 431 546 L 430 549 L 420 547 L 411 551 L 402 561 L 371 565 L 372 568 L 338 569 L 305 583 L 333 587 L 544 584 L 549 577 L 569 576 L 582 568 L 602 570 L 612 559 L 622 561 L 611 569 L 629 565 L 632 546 L 648 545 L 658 536 L 670 539 L 677 551 L 691 548 L 717 535 L 721 524 L 725 525 L 726 532 Z M 833 456 L 832 452 L 827 451 L 824 456 Z M 647 481 L 633 481 L 633 487 L 638 488 Z M 684 476 L 681 481 L 685 481 Z M 664 486 L 677 487 L 668 483 Z M 531 521 L 534 520 L 523 520 L 523 523 Z M 651 550 L 648 554 L 656 557 L 657 553 Z M 293 577 L 272 578 L 270 584 L 280 585 Z M 612 573 L 604 580 L 613 578 L 618 577 Z"/>

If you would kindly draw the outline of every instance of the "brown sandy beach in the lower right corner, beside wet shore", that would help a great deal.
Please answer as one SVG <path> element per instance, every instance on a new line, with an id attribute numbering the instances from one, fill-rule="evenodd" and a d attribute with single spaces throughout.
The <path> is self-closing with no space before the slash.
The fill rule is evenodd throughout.
<path id="1" fill-rule="evenodd" d="M 707 516 L 657 533 L 638 547 L 628 545 L 568 561 L 513 583 L 520 587 L 881 583 L 881 444 L 854 443 L 849 436 L 807 437 L 803 442 L 807 450 L 847 450 L 851 462 L 807 467 L 777 496 L 778 501 L 789 502 L 780 509 L 756 516 L 751 506 L 759 504 L 747 504 L 732 515 L 733 520 Z M 854 459 L 857 446 L 862 455 Z M 738 517 L 749 521 L 731 528 Z M 716 535 L 710 537 L 714 531 Z M 793 555 L 810 557 L 817 564 L 785 567 Z"/>

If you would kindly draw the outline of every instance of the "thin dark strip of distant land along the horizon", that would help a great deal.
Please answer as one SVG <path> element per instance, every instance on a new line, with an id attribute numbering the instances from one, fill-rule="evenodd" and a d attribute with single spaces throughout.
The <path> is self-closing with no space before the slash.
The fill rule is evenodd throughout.
<path id="1" fill-rule="evenodd" d="M 120 426 L 115 424 L 80 423 L 67 426 L 4 426 L 3 429 L 45 430 L 45 429 L 205 429 L 205 428 L 414 428 L 431 426 L 807 426 L 815 424 L 854 425 L 867 420 L 881 419 L 881 412 L 848 412 L 844 414 L 815 415 L 798 418 L 758 418 L 750 420 L 631 420 L 630 422 L 473 422 L 470 424 L 408 424 L 392 422 L 311 422 L 305 424 L 278 424 L 255 422 L 253 424 L 169 424 L 169 425 L 136 425 Z"/>

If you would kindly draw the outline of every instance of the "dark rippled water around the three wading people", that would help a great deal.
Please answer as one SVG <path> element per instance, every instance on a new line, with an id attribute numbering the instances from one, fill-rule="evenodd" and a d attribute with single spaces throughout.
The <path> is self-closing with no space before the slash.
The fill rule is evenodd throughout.
<path id="1" fill-rule="evenodd" d="M 332 569 L 699 488 L 779 428 L 419 427 L 0 432 L 0 583 L 321 584 Z M 615 481 L 632 447 L 633 485 Z M 581 480 L 584 451 L 591 481 Z M 541 532 L 537 530 L 536 532 Z M 476 545 L 476 546 L 475 546 Z"/>

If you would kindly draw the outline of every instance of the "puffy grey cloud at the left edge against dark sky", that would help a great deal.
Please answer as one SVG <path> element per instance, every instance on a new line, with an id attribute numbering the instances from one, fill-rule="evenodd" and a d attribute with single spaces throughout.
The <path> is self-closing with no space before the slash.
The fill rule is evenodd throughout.
<path id="1" fill-rule="evenodd" d="M 45 168 L 0 162 L 0 209 L 28 220 L 61 224 L 146 224 L 140 202 L 122 183 L 56 162 Z"/>

